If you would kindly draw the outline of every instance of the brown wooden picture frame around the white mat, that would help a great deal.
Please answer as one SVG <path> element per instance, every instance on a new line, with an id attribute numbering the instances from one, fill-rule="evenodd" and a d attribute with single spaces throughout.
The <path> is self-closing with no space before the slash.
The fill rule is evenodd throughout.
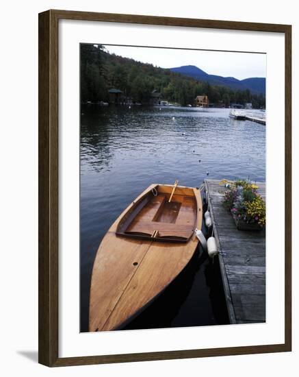
<path id="1" fill-rule="evenodd" d="M 285 34 L 285 343 L 59 358 L 58 21 L 60 19 Z M 49 10 L 39 14 L 39 363 L 49 367 L 291 351 L 291 26 Z"/>

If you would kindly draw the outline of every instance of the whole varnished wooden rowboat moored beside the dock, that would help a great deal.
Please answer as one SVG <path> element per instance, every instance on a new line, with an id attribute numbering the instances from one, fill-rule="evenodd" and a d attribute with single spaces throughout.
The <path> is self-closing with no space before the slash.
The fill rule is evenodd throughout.
<path id="1" fill-rule="evenodd" d="M 202 214 L 198 189 L 161 184 L 122 212 L 94 260 L 90 331 L 119 328 L 174 280 L 196 250 Z"/>

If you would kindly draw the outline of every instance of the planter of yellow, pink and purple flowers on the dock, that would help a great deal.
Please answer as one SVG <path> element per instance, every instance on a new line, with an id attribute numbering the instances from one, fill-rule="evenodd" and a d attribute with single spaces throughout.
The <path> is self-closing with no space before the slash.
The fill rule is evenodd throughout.
<path id="1" fill-rule="evenodd" d="M 257 193 L 258 186 L 246 180 L 228 184 L 222 204 L 233 215 L 238 230 L 261 230 L 265 226 L 265 201 Z"/>

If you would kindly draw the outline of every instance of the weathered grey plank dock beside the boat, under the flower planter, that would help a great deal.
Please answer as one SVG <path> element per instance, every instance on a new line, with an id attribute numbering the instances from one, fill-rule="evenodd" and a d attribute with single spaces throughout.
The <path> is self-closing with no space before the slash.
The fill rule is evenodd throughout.
<path id="1" fill-rule="evenodd" d="M 205 180 L 205 190 L 218 246 L 220 271 L 231 324 L 265 321 L 265 230 L 237 230 L 222 206 L 224 186 Z M 257 182 L 265 199 L 265 182 Z"/>

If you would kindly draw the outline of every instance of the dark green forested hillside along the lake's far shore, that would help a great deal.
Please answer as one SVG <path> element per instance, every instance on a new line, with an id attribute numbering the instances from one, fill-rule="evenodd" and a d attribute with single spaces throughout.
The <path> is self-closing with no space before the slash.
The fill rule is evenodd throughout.
<path id="1" fill-rule="evenodd" d="M 122 58 L 105 51 L 103 45 L 81 44 L 80 47 L 81 101 L 109 101 L 108 90 L 122 90 L 125 97 L 148 104 L 152 91 L 158 90 L 164 100 L 182 106 L 194 105 L 197 95 L 207 95 L 210 104 L 252 103 L 253 108 L 264 108 L 265 97 L 252 94 L 249 89 L 233 90 L 211 85 L 133 59 Z"/>

